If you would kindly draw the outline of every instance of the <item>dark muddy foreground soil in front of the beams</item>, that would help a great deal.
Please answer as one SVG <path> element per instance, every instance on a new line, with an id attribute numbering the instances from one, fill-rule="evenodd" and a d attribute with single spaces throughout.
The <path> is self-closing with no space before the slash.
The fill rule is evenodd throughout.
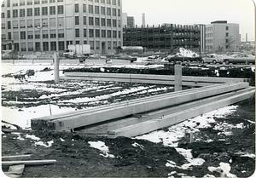
<path id="1" fill-rule="evenodd" d="M 20 141 L 15 134 L 3 134 L 2 154 L 33 154 L 32 158 L 57 160 L 56 164 L 51 165 L 26 166 L 23 177 L 167 177 L 172 171 L 176 171 L 172 172 L 175 177 L 203 177 L 207 174 L 220 176 L 221 173 L 207 169 L 208 166 L 218 167 L 220 162 L 230 164 L 231 174 L 248 177 L 254 172 L 255 158 L 241 157 L 238 152 L 254 154 L 254 108 L 254 100 L 245 100 L 239 103 L 236 112 L 224 118 L 216 118 L 217 122 L 211 123 L 210 128 L 200 129 L 194 135 L 194 142 L 190 143 L 189 135 L 185 135 L 178 146 L 192 149 L 193 158 L 205 160 L 201 166 L 193 166 L 191 169 L 166 167 L 166 160 L 172 160 L 177 165 L 187 160 L 174 147 L 163 146 L 162 143 L 124 137 L 112 140 L 67 132 L 16 131 L 20 132 L 21 137 L 29 134 L 38 136 L 40 141 L 54 141 L 49 147 L 35 146 L 32 139 Z M 224 135 L 222 131 L 213 129 L 219 123 L 243 123 L 246 127 L 231 129 L 232 135 Z M 196 138 L 200 138 L 199 141 Z M 205 142 L 209 138 L 212 142 Z M 104 141 L 115 158 L 102 157 L 101 152 L 90 147 L 88 141 Z M 143 147 L 132 146 L 135 142 Z"/>

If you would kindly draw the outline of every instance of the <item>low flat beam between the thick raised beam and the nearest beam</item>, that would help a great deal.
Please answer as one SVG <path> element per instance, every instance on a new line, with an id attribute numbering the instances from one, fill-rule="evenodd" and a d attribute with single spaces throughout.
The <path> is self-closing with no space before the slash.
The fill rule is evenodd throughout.
<path id="1" fill-rule="evenodd" d="M 172 106 L 166 109 L 160 109 L 155 112 L 146 112 L 139 115 L 135 115 L 131 118 L 123 118 L 117 121 L 110 121 L 109 123 L 99 124 L 87 129 L 83 129 L 81 132 L 86 134 L 91 134 L 91 135 L 108 135 L 108 131 L 111 131 L 114 129 L 127 127 L 135 123 L 142 123 L 154 118 L 161 118 L 162 116 L 170 115 L 171 113 L 182 112 L 182 111 L 188 110 L 191 107 L 206 105 L 207 103 L 214 102 L 216 100 L 223 100 L 227 97 L 242 94 L 243 92 L 252 91 L 252 90 L 255 90 L 255 88 L 252 87 L 247 89 L 241 89 L 239 91 L 234 91 L 227 94 L 212 96 L 207 99 L 191 101 L 189 103 L 182 104 L 179 106 Z"/>

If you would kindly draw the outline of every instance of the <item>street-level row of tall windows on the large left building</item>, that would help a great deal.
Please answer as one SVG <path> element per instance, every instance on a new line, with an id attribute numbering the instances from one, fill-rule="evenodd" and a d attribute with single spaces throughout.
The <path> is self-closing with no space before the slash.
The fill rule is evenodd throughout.
<path id="1" fill-rule="evenodd" d="M 75 44 L 80 44 L 80 41 L 75 41 Z M 100 41 L 83 41 L 82 43 L 90 44 L 90 49 L 92 50 L 99 50 L 101 48 L 101 42 Z M 59 41 L 59 42 L 43 42 L 43 51 L 56 51 L 57 47 L 58 50 L 64 50 L 65 49 L 65 42 Z M 58 44 L 58 46 L 57 46 Z M 66 42 L 66 48 L 68 48 L 69 44 L 73 44 L 73 41 L 67 41 Z M 27 46 L 26 46 L 27 45 Z M 108 41 L 107 42 L 107 49 L 116 49 L 117 46 L 121 45 L 120 41 Z M 40 42 L 28 42 L 28 43 L 14 43 L 14 47 L 16 51 L 41 51 L 41 43 Z M 9 44 L 9 48 L 11 48 L 11 43 Z"/>

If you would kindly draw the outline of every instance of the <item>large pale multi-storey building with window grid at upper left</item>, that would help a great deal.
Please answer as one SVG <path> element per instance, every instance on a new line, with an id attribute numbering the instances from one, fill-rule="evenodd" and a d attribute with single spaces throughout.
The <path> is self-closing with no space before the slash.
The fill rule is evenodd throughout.
<path id="1" fill-rule="evenodd" d="M 2 49 L 61 51 L 90 44 L 92 53 L 122 46 L 121 0 L 5 0 Z"/>

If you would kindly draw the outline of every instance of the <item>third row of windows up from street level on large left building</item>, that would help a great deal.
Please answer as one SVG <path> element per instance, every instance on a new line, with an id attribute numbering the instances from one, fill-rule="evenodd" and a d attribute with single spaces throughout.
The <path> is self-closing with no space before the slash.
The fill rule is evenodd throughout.
<path id="1" fill-rule="evenodd" d="M 80 19 L 83 19 L 83 22 L 81 24 Z M 74 23 L 76 26 L 79 25 L 87 25 L 87 16 L 83 17 L 75 16 Z M 58 27 L 64 27 L 64 18 L 60 17 L 56 20 L 56 18 L 49 18 L 48 19 L 35 19 L 34 23 L 33 20 L 13 20 L 13 29 L 19 28 L 33 28 L 33 27 L 56 27 L 56 23 Z M 120 27 L 121 26 L 121 20 L 112 20 L 112 19 L 105 19 L 105 18 L 97 18 L 97 17 L 88 17 L 88 25 L 89 26 L 108 26 L 108 27 Z M 2 22 L 2 29 L 6 29 L 6 25 L 4 22 Z M 7 29 L 12 29 L 11 21 L 7 21 Z"/>

